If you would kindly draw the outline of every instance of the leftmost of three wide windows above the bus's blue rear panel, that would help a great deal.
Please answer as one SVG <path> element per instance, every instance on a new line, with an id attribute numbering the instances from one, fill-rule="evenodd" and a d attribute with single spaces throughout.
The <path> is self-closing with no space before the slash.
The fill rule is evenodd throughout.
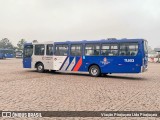
<path id="1" fill-rule="evenodd" d="M 94 56 L 100 54 L 100 45 L 97 44 L 86 44 L 85 55 Z"/>

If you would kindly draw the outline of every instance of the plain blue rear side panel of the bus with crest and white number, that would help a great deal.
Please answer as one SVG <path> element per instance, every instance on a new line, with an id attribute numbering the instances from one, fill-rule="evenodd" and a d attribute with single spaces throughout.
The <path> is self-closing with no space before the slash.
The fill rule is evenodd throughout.
<path id="1" fill-rule="evenodd" d="M 126 60 L 133 60 L 126 62 Z M 130 56 L 85 56 L 83 60 L 84 71 L 88 71 L 92 64 L 100 67 L 101 73 L 139 73 L 141 66 L 139 59 Z"/>

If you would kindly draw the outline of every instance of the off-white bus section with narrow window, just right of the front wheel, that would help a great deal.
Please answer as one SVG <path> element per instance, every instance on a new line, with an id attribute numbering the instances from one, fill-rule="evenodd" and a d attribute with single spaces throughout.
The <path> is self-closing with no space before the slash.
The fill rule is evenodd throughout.
<path id="1" fill-rule="evenodd" d="M 53 44 L 46 45 L 46 56 L 44 57 L 45 69 L 52 70 L 53 69 L 53 52 L 54 46 Z"/>

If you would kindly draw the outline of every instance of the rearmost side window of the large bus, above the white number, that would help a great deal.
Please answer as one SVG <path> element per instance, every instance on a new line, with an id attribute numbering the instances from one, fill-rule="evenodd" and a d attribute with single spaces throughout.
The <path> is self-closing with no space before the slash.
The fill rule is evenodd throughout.
<path id="1" fill-rule="evenodd" d="M 120 56 L 136 56 L 138 53 L 138 43 L 122 43 L 120 44 Z"/>

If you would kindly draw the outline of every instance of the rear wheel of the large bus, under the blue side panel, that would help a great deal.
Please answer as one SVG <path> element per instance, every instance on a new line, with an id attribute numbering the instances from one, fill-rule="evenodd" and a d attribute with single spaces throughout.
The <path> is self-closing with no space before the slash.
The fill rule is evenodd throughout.
<path id="1" fill-rule="evenodd" d="M 100 68 L 97 65 L 92 65 L 89 68 L 89 74 L 93 77 L 98 77 L 101 75 Z"/>

